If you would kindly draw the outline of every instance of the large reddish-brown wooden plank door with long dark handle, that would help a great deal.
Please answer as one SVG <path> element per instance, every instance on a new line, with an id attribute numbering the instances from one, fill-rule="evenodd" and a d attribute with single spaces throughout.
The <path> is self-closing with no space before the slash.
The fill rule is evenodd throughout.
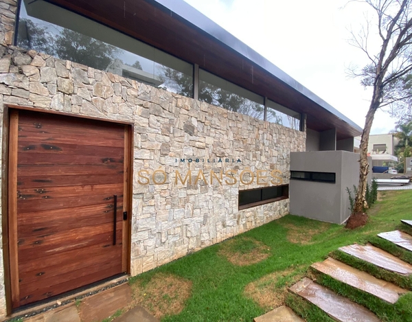
<path id="1" fill-rule="evenodd" d="M 109 122 L 10 114 L 13 308 L 126 271 L 125 133 Z"/>

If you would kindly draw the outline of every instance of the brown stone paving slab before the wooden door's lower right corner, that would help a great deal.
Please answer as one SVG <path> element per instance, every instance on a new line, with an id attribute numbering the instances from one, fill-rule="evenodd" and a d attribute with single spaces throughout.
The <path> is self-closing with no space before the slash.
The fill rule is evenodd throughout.
<path id="1" fill-rule="evenodd" d="M 121 310 L 132 301 L 132 291 L 128 284 L 122 284 L 87 297 L 80 304 L 82 322 L 102 321 Z"/>

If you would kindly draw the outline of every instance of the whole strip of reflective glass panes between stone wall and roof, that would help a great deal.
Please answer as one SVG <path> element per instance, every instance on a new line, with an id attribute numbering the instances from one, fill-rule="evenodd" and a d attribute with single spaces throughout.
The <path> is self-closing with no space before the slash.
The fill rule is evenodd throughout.
<path id="1" fill-rule="evenodd" d="M 21 1 L 17 45 L 193 97 L 193 65 L 46 1 Z M 203 69 L 198 99 L 264 119 L 264 97 Z M 266 121 L 299 130 L 300 117 L 266 100 Z"/>

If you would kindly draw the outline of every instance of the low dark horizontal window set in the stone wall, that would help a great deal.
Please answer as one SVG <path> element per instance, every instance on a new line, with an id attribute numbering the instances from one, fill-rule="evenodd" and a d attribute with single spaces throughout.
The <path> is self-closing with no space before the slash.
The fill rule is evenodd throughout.
<path id="1" fill-rule="evenodd" d="M 275 185 L 239 192 L 239 210 L 289 198 L 289 185 Z"/>

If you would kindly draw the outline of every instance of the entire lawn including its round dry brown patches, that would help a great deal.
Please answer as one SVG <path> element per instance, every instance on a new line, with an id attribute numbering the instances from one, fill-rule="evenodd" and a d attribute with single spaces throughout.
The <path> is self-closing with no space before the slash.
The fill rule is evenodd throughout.
<path id="1" fill-rule="evenodd" d="M 161 321 L 253 321 L 285 301 L 310 321 L 327 321 L 324 314 L 288 295 L 287 287 L 301 277 L 313 274 L 309 269 L 313 262 L 323 260 L 331 252 L 339 257 L 336 250 L 340 246 L 368 241 L 380 244 L 376 233 L 399 228 L 401 219 L 412 219 L 411 209 L 412 191 L 409 190 L 383 192 L 368 211 L 367 225 L 354 230 L 284 216 L 133 277 L 130 284 L 135 289 L 136 301 L 161 317 Z M 382 242 L 382 247 L 412 262 L 412 256 L 397 246 Z M 330 288 L 355 294 L 327 278 L 319 279 Z M 409 279 L 403 278 L 399 283 L 412 288 Z M 353 299 L 361 301 L 364 295 L 356 294 Z M 410 321 L 411 296 L 404 297 L 393 309 L 379 302 L 371 303 L 374 299 L 365 299 L 367 303 L 363 305 L 370 304 L 383 321 Z M 400 312 L 407 313 L 402 315 L 404 313 Z"/>

